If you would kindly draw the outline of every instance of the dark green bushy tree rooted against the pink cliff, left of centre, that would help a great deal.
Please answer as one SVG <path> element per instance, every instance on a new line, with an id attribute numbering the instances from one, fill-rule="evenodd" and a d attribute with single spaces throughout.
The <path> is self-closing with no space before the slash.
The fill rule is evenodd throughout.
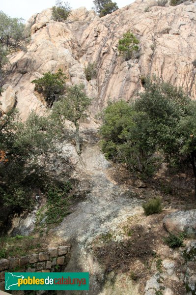
<path id="1" fill-rule="evenodd" d="M 51 108 L 54 101 L 64 93 L 66 79 L 65 74 L 59 69 L 56 74 L 45 73 L 42 78 L 33 80 L 31 83 L 35 84 L 35 90 L 44 95 L 47 108 Z"/>

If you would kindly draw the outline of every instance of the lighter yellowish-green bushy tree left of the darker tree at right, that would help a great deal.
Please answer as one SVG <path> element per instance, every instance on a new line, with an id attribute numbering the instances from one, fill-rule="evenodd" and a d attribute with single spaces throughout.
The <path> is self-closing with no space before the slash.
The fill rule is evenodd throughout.
<path id="1" fill-rule="evenodd" d="M 158 157 L 152 156 L 154 148 L 146 145 L 147 126 L 143 124 L 143 114 L 134 111 L 134 106 L 120 100 L 111 103 L 103 111 L 100 128 L 101 147 L 107 159 L 126 163 L 134 173 L 151 176 Z"/>

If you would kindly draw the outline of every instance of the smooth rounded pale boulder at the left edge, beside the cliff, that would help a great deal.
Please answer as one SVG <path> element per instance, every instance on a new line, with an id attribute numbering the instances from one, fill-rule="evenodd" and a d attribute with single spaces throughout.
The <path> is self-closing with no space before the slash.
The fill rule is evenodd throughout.
<path id="1" fill-rule="evenodd" d="M 0 96 L 0 110 L 1 113 L 7 114 L 13 109 L 17 99 L 16 93 L 10 85 L 4 86 L 3 89 L 4 91 Z"/>

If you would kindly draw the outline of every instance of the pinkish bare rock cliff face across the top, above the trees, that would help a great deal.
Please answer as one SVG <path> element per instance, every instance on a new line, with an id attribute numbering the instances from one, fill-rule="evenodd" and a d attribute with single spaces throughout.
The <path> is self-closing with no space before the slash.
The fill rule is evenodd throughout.
<path id="1" fill-rule="evenodd" d="M 148 1 L 137 0 L 114 13 L 99 18 L 84 7 L 73 10 L 65 23 L 52 20 L 51 9 L 32 16 L 31 41 L 27 52 L 10 56 L 8 83 L 17 96 L 17 107 L 24 118 L 29 110 L 45 109 L 33 92 L 33 79 L 61 68 L 72 84 L 85 84 L 94 98 L 92 113 L 108 100 L 131 99 L 141 89 L 140 76 L 159 75 L 182 86 L 196 98 L 196 5 L 153 6 L 144 12 Z M 131 30 L 140 40 L 140 56 L 124 61 L 118 54 L 118 40 Z M 87 82 L 84 67 L 96 62 L 96 80 Z"/>

